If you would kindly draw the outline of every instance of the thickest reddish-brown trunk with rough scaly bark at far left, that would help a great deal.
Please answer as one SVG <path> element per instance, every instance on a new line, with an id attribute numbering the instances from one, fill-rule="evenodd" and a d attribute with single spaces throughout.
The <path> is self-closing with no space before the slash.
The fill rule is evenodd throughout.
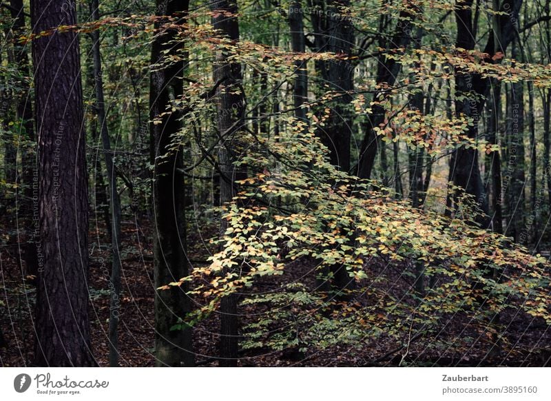
<path id="1" fill-rule="evenodd" d="M 36 364 L 90 367 L 96 361 L 88 318 L 88 194 L 79 41 L 75 32 L 55 31 L 59 25 L 76 24 L 75 3 L 67 7 L 66 0 L 34 0 L 31 15 L 34 34 L 53 30 L 32 41 L 41 240 Z"/>

